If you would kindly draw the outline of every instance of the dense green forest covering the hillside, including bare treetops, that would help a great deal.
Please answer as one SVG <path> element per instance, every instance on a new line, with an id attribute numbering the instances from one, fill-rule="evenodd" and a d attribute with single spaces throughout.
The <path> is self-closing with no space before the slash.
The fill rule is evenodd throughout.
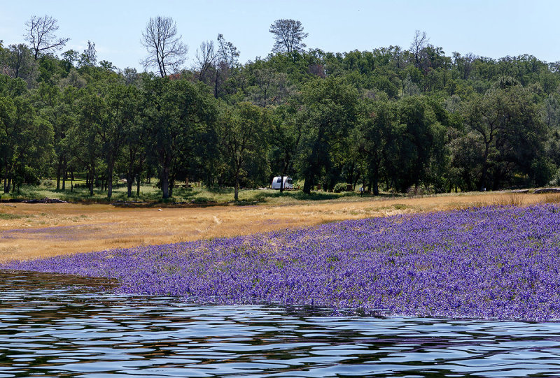
<path id="1" fill-rule="evenodd" d="M 239 62 L 218 34 L 187 47 L 170 17 L 139 37 L 144 72 L 65 50 L 57 20 L 33 16 L 27 44 L 0 41 L 3 193 L 82 177 L 90 193 L 158 177 L 267 187 L 444 193 L 560 184 L 560 62 L 444 52 L 416 31 L 408 48 L 307 48 L 301 22 L 270 25 L 272 51 Z M 165 42 L 165 43 L 162 43 Z M 351 44 L 351 41 L 349 41 Z"/>

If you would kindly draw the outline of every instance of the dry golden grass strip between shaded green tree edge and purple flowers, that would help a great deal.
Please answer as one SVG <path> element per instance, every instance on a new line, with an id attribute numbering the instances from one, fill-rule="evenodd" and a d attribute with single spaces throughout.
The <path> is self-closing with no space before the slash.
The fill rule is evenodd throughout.
<path id="1" fill-rule="evenodd" d="M 0 204 L 0 261 L 246 235 L 343 219 L 482 205 L 560 203 L 560 194 L 485 193 L 422 198 L 341 198 L 283 205 L 116 208 Z"/>

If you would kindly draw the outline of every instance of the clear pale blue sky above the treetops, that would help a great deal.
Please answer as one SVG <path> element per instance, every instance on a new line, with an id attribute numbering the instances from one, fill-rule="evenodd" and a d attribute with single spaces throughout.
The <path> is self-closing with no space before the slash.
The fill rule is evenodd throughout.
<path id="1" fill-rule="evenodd" d="M 560 1 L 555 0 L 0 0 L 0 39 L 24 42 L 31 15 L 58 20 L 64 50 L 82 52 L 95 43 L 97 59 L 118 68 L 141 68 L 146 50 L 141 31 L 150 17 L 170 16 L 189 46 L 187 66 L 197 46 L 218 33 L 241 52 L 240 61 L 266 57 L 272 50 L 269 25 L 281 18 L 300 20 L 307 48 L 330 52 L 409 48 L 415 30 L 447 55 L 457 51 L 484 57 L 533 54 L 560 61 Z"/>

